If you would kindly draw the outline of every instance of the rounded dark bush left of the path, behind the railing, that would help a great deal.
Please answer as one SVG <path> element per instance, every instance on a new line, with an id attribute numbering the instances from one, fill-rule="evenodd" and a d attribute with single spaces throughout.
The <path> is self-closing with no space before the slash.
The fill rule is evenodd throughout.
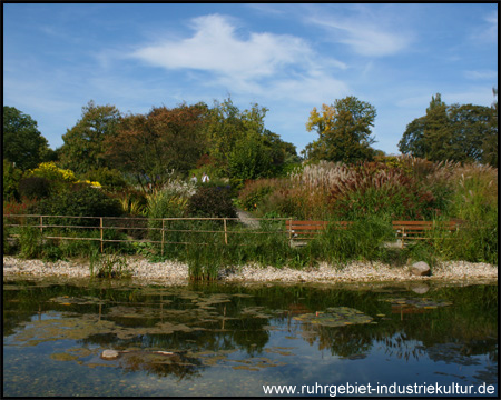
<path id="1" fill-rule="evenodd" d="M 188 200 L 188 214 L 193 217 L 236 218 L 230 187 L 202 187 Z"/>

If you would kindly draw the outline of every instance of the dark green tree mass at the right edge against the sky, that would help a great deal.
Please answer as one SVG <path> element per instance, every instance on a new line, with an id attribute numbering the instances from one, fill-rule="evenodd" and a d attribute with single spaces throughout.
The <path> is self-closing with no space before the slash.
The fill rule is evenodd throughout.
<path id="1" fill-rule="evenodd" d="M 407 124 L 399 149 L 430 161 L 491 162 L 489 143 L 498 138 L 493 108 L 473 104 L 446 106 L 440 93 L 432 97 L 424 117 Z M 497 150 L 495 150 L 497 154 Z M 495 160 L 497 161 L 497 160 Z"/>

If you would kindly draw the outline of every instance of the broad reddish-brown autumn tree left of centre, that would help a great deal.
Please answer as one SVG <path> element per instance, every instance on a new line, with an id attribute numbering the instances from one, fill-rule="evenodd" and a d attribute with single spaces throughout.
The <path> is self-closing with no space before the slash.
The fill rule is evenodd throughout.
<path id="1" fill-rule="evenodd" d="M 173 170 L 187 174 L 207 148 L 206 114 L 207 106 L 198 103 L 154 107 L 146 116 L 127 116 L 116 134 L 107 138 L 106 158 L 131 173 L 145 190 L 147 183 L 161 184 Z"/>

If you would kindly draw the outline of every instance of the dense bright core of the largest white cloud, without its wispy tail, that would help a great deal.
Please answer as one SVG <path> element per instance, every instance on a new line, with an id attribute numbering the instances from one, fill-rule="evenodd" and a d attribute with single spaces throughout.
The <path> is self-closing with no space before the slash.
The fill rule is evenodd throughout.
<path id="1" fill-rule="evenodd" d="M 169 70 L 187 68 L 240 79 L 268 77 L 312 57 L 306 42 L 292 36 L 250 33 L 247 40 L 240 39 L 218 14 L 195 18 L 193 28 L 190 38 L 165 40 L 131 56 Z"/>

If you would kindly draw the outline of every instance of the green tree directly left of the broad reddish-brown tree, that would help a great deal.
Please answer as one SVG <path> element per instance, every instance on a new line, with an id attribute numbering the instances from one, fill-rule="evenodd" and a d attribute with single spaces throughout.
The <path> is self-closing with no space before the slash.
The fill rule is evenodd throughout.
<path id="1" fill-rule="evenodd" d="M 81 119 L 62 136 L 65 143 L 59 149 L 63 168 L 86 173 L 106 167 L 104 142 L 116 134 L 121 118 L 115 106 L 96 106 L 90 100 L 81 109 Z"/>

